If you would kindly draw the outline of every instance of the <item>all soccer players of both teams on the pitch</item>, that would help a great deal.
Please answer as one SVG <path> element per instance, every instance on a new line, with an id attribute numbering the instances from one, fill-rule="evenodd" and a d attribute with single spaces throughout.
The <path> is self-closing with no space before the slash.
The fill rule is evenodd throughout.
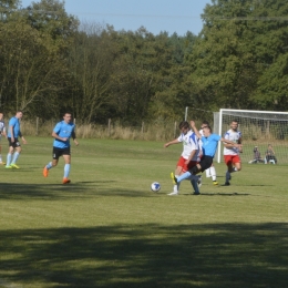
<path id="1" fill-rule="evenodd" d="M 25 138 L 20 131 L 20 120 L 22 119 L 22 111 L 18 111 L 13 117 L 9 121 L 8 133 L 6 133 L 6 126 L 3 121 L 3 113 L 0 113 L 0 135 L 4 135 L 9 142 L 9 152 L 7 154 L 7 163 L 2 162 L 1 145 L 0 145 L 0 164 L 6 168 L 19 168 L 17 161 L 21 153 L 21 145 L 19 137 L 22 138 L 23 144 L 27 144 Z M 79 145 L 75 136 L 75 125 L 72 123 L 71 113 L 64 113 L 63 121 L 59 122 L 53 131 L 52 137 L 52 162 L 49 162 L 43 168 L 43 176 L 48 177 L 49 171 L 58 165 L 59 157 L 63 156 L 64 176 L 63 184 L 69 184 L 69 174 L 71 168 L 71 152 L 70 152 L 70 138 L 72 137 L 75 145 Z M 184 179 L 189 179 L 194 188 L 194 194 L 199 194 L 199 187 L 202 185 L 202 178 L 197 174 L 206 171 L 207 176 L 212 176 L 213 184 L 218 185 L 216 181 L 216 171 L 213 166 L 213 158 L 217 150 L 218 142 L 224 143 L 224 160 L 227 165 L 226 172 L 226 186 L 230 185 L 230 173 L 241 169 L 241 162 L 239 153 L 241 153 L 241 133 L 238 131 L 238 122 L 232 121 L 230 128 L 222 137 L 212 133 L 212 128 L 208 122 L 202 123 L 202 130 L 198 131 L 195 126 L 195 122 L 189 123 L 183 121 L 179 123 L 181 135 L 164 144 L 164 147 L 168 147 L 172 144 L 183 143 L 183 153 L 178 160 L 175 174 L 172 173 L 171 177 L 174 183 L 174 189 L 168 195 L 178 195 L 179 185 Z"/>

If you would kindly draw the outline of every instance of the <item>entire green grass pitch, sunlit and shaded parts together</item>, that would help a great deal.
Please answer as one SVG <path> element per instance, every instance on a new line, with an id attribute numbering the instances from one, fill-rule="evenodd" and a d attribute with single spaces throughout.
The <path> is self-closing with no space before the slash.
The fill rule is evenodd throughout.
<path id="1" fill-rule="evenodd" d="M 169 197 L 181 145 L 80 140 L 62 185 L 62 158 L 42 177 L 51 138 L 28 141 L 21 169 L 1 168 L 0 287 L 287 286 L 287 166 L 244 163 L 229 187 L 204 175 L 202 195 L 184 182 Z"/>

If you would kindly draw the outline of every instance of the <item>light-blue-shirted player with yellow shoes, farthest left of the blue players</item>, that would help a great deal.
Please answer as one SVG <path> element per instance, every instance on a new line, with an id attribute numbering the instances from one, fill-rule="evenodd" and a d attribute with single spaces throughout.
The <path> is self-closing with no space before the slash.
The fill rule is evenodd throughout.
<path id="1" fill-rule="evenodd" d="M 19 155 L 22 151 L 18 137 L 22 138 L 23 144 L 27 144 L 25 138 L 23 137 L 20 130 L 20 119 L 22 119 L 23 112 L 17 111 L 16 115 L 10 119 L 8 127 L 8 142 L 9 142 L 9 152 L 7 154 L 6 168 L 17 168 L 19 166 L 16 164 Z"/>

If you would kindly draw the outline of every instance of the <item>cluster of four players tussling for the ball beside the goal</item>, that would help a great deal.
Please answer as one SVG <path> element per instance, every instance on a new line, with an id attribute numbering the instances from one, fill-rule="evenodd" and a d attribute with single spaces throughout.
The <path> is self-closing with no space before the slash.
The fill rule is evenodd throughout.
<path id="1" fill-rule="evenodd" d="M 218 185 L 216 181 L 216 171 L 213 165 L 213 158 L 217 151 L 218 142 L 224 143 L 224 161 L 227 165 L 225 186 L 230 185 L 230 173 L 241 169 L 239 153 L 241 153 L 241 133 L 238 131 L 238 122 L 232 121 L 230 128 L 224 137 L 212 133 L 207 121 L 203 121 L 200 131 L 195 126 L 195 122 L 183 121 L 179 123 L 181 135 L 164 144 L 168 147 L 173 144 L 183 143 L 183 153 L 177 162 L 175 174 L 171 173 L 174 188 L 169 196 L 179 194 L 179 185 L 184 179 L 189 179 L 194 188 L 194 195 L 199 195 L 202 177 L 197 174 L 206 171 L 206 176 L 213 178 L 213 184 Z"/>

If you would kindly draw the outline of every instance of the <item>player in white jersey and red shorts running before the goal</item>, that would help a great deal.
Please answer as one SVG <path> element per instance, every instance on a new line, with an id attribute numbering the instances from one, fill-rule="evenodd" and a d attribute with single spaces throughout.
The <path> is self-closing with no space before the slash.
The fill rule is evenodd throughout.
<path id="1" fill-rule="evenodd" d="M 241 144 L 241 132 L 238 131 L 238 122 L 236 120 L 232 121 L 230 128 L 224 135 L 225 140 L 229 140 L 236 144 Z M 232 175 L 230 173 L 241 169 L 241 161 L 239 157 L 241 153 L 241 147 L 235 147 L 234 145 L 224 142 L 224 161 L 227 165 L 225 186 L 230 185 Z"/>

